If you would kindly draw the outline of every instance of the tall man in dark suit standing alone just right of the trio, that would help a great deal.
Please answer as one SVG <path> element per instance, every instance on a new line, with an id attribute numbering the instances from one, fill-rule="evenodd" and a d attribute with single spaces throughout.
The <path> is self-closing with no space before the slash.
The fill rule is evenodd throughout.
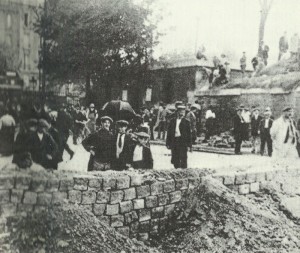
<path id="1" fill-rule="evenodd" d="M 176 118 L 171 119 L 167 133 L 167 148 L 171 149 L 175 168 L 187 168 L 187 150 L 192 152 L 190 122 L 185 119 L 185 106 L 177 107 Z"/>

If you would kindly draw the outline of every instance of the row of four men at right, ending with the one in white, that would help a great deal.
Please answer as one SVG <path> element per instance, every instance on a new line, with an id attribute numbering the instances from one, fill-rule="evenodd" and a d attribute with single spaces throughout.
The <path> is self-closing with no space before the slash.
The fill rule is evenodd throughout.
<path id="1" fill-rule="evenodd" d="M 297 158 L 298 131 L 293 120 L 293 108 L 285 107 L 282 116 L 274 120 L 270 107 L 265 108 L 263 116 L 258 108 L 253 108 L 251 120 L 247 120 L 244 106 L 237 108 L 234 117 L 235 154 L 241 154 L 241 144 L 249 140 L 249 130 L 252 137 L 252 153 L 259 151 L 275 158 Z M 260 140 L 260 148 L 257 146 Z"/>

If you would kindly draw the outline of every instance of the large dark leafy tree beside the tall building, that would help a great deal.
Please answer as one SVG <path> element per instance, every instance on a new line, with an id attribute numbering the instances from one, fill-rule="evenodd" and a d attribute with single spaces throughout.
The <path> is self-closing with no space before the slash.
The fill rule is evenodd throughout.
<path id="1" fill-rule="evenodd" d="M 49 80 L 85 77 L 104 85 L 107 100 L 112 84 L 133 77 L 141 83 L 155 44 L 151 1 L 48 0 L 47 13 L 36 10 L 35 31 L 45 38 L 44 71 Z"/>

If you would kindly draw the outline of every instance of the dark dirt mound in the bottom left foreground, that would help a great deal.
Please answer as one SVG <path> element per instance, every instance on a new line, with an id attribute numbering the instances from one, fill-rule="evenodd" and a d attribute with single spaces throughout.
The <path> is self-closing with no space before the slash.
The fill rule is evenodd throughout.
<path id="1" fill-rule="evenodd" d="M 12 252 L 156 252 L 135 239 L 118 234 L 79 207 L 56 207 L 32 214 L 20 219 L 10 230 Z"/>

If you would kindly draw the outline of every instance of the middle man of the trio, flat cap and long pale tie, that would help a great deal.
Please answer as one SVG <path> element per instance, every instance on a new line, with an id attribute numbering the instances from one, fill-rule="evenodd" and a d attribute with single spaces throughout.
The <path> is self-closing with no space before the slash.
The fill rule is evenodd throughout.
<path id="1" fill-rule="evenodd" d="M 118 132 L 115 135 L 113 142 L 113 170 L 126 170 L 131 167 L 132 141 L 130 136 L 126 133 L 128 124 L 129 123 L 125 120 L 117 121 Z"/>

